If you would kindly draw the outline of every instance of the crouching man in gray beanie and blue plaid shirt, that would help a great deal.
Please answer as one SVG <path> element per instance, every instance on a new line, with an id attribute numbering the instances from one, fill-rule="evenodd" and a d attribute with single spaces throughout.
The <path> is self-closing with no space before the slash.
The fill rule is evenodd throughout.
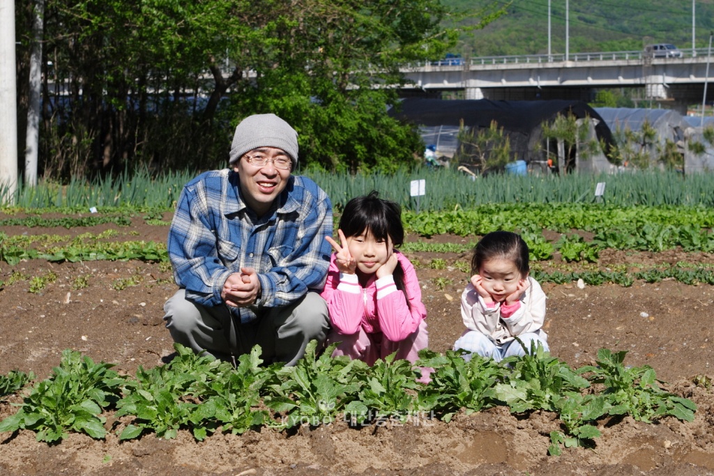
<path id="1" fill-rule="evenodd" d="M 164 304 L 174 341 L 233 363 L 257 344 L 266 363 L 294 365 L 325 340 L 332 205 L 291 175 L 297 163 L 296 131 L 256 114 L 236 127 L 230 168 L 184 186 L 169 229 L 179 289 Z"/>

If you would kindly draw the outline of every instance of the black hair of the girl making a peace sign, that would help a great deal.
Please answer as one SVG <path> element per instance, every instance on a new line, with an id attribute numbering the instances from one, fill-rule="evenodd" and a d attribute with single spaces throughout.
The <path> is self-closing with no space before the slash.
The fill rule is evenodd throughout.
<path id="1" fill-rule="evenodd" d="M 377 191 L 371 191 L 366 196 L 355 197 L 347 202 L 340 217 L 340 229 L 346 238 L 371 232 L 374 238 L 384 240 L 385 243 L 388 242 L 388 238 L 391 238 L 394 248 L 399 248 L 404 243 L 401 206 L 396 202 L 379 198 Z M 394 284 L 404 293 L 406 303 L 411 308 L 401 263 L 394 269 L 393 276 Z"/>

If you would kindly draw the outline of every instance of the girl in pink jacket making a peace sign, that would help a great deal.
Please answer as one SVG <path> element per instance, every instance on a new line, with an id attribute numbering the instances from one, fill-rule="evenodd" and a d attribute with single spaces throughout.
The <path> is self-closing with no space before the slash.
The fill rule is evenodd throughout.
<path id="1" fill-rule="evenodd" d="M 322 297 L 332 323 L 327 343 L 333 355 L 373 365 L 396 352 L 416 361 L 426 348 L 426 308 L 413 265 L 396 247 L 404 240 L 401 208 L 376 191 L 353 198 L 340 218 L 335 250 Z M 425 375 L 426 377 L 426 375 Z"/>

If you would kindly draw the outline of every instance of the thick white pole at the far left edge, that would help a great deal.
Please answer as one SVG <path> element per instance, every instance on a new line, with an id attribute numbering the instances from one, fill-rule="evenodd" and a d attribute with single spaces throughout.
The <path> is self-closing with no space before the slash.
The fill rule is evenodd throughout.
<path id="1" fill-rule="evenodd" d="M 15 76 L 15 2 L 0 0 L 0 203 L 8 204 L 17 188 Z"/>

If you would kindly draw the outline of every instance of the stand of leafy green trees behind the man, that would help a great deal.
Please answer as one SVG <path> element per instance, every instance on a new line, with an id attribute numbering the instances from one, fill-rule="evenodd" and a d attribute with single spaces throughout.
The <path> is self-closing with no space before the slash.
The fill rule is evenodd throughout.
<path id="1" fill-rule="evenodd" d="M 300 133 L 301 164 L 411 163 L 416 129 L 387 113 L 399 68 L 442 56 L 458 36 L 443 25 L 461 18 L 440 0 L 46 0 L 45 11 L 40 165 L 59 179 L 225 166 L 233 126 L 267 111 Z"/>

